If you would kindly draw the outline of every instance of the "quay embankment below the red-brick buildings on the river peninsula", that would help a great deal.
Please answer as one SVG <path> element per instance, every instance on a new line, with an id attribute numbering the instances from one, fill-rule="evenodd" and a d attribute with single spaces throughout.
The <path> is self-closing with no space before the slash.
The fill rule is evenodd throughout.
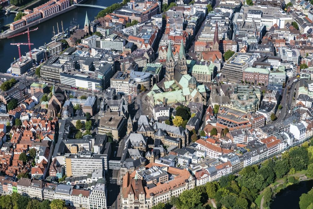
<path id="1" fill-rule="evenodd" d="M 61 10 L 61 11 L 58 12 L 58 13 L 55 13 L 55 14 L 53 14 L 53 15 L 50 15 L 49 17 L 46 17 L 46 18 L 39 19 L 39 20 L 36 21 L 36 22 L 30 23 L 30 24 L 25 25 L 24 27 L 19 28 L 19 29 L 16 29 L 16 30 L 10 30 L 10 29 L 8 29 L 8 30 L 4 31 L 2 34 L 0 34 L 0 39 L 5 39 L 5 38 L 7 38 L 8 36 L 15 35 L 15 34 L 18 34 L 18 33 L 20 33 L 20 32 L 23 32 L 24 30 L 26 30 L 26 29 L 29 28 L 29 27 L 36 26 L 36 25 L 38 25 L 38 24 L 40 24 L 40 23 L 43 23 L 43 22 L 45 22 L 45 21 L 47 21 L 47 20 L 49 20 L 49 19 L 52 19 L 52 18 L 54 18 L 54 17 L 57 17 L 57 16 L 59 16 L 59 15 L 61 15 L 61 14 L 63 14 L 63 13 L 69 12 L 69 11 L 75 9 L 76 7 L 77 7 L 77 6 L 72 5 L 72 6 L 66 8 L 66 9 L 64 9 L 64 10 Z"/>

